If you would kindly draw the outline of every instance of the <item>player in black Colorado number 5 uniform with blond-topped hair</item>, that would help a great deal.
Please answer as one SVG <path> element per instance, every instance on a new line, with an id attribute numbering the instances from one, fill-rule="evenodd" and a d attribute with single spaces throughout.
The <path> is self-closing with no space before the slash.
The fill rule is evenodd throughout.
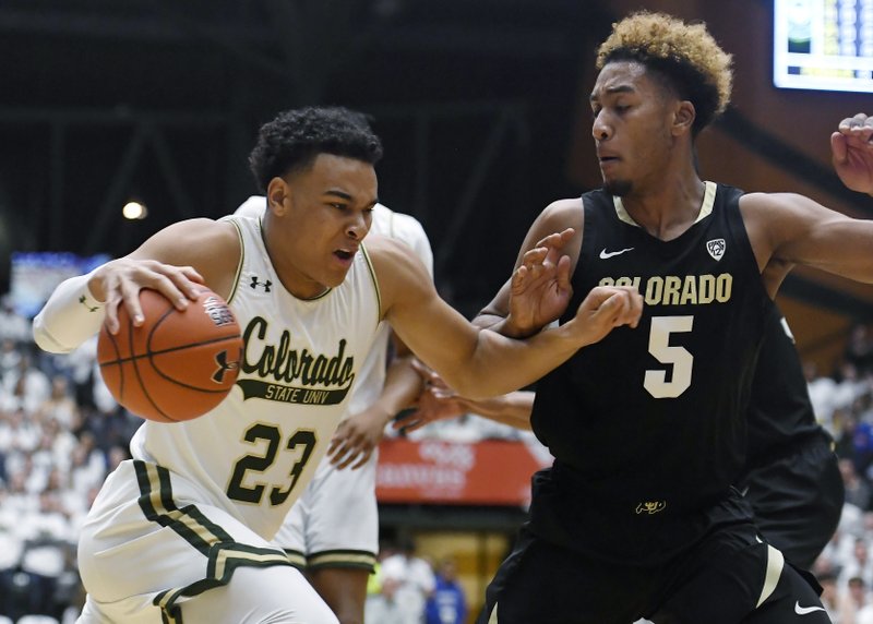
<path id="1" fill-rule="evenodd" d="M 541 278 L 526 280 L 537 312 L 522 314 L 529 288 L 504 287 L 478 322 L 527 335 L 597 285 L 636 286 L 645 308 L 538 383 L 531 425 L 555 460 L 480 622 L 828 622 L 733 484 L 778 286 L 794 264 L 873 283 L 873 221 L 699 179 L 694 137 L 731 88 L 730 56 L 704 25 L 632 15 L 597 63 L 603 188 L 554 202 L 528 232 L 523 253 L 566 232 L 545 262 L 519 263 Z M 846 141 L 848 161 L 873 161 L 861 141 Z"/>

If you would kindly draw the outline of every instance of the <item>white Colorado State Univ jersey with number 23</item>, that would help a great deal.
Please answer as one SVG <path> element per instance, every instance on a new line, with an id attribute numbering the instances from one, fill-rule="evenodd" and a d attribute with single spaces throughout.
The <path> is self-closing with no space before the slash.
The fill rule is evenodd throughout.
<path id="1" fill-rule="evenodd" d="M 134 459 L 158 464 L 271 539 L 327 451 L 380 322 L 379 289 L 361 245 L 343 284 L 312 300 L 282 286 L 259 219 L 224 217 L 242 253 L 228 303 L 243 332 L 239 377 L 211 412 L 146 421 Z"/>

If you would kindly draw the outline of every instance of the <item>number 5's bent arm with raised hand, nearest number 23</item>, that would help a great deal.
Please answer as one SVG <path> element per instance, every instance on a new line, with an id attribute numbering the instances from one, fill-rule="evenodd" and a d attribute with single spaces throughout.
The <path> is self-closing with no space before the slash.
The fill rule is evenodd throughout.
<path id="1" fill-rule="evenodd" d="M 539 272 L 524 290 L 513 288 L 512 278 L 494 299 L 474 319 L 474 324 L 505 336 L 524 337 L 559 319 L 566 309 L 573 290 L 570 276 L 578 262 L 584 226 L 582 200 L 560 200 L 550 204 L 530 226 L 514 271 L 526 264 Z M 572 233 L 566 233 L 572 228 Z M 557 237 L 553 232 L 564 232 Z M 546 249 L 542 262 L 533 250 Z M 530 261 L 534 262 L 530 262 Z"/>

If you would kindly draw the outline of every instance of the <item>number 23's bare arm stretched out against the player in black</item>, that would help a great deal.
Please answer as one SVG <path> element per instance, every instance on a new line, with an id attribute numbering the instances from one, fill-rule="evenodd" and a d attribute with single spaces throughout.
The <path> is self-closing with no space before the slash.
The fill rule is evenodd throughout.
<path id="1" fill-rule="evenodd" d="M 369 249 L 385 319 L 424 363 L 470 398 L 533 383 L 613 327 L 635 325 L 642 312 L 642 300 L 632 289 L 596 288 L 567 323 L 527 340 L 511 339 L 471 325 L 440 299 L 423 265 L 406 245 L 388 239 L 373 243 Z M 524 279 L 516 273 L 517 281 Z"/>

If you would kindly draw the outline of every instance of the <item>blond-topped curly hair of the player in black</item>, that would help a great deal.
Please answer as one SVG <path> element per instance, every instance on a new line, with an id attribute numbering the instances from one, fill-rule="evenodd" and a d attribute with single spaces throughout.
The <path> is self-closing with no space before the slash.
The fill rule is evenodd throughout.
<path id="1" fill-rule="evenodd" d="M 680 98 L 694 105 L 695 135 L 728 107 L 732 57 L 705 24 L 686 24 L 666 13 L 633 13 L 612 25 L 612 34 L 597 50 L 596 67 L 624 60 L 655 70 Z"/>

